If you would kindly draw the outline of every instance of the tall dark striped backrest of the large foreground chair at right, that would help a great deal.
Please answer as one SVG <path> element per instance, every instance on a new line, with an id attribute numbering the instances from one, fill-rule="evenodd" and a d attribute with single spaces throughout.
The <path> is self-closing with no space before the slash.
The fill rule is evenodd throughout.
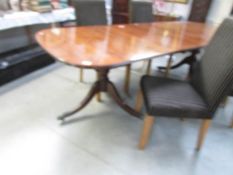
<path id="1" fill-rule="evenodd" d="M 233 84 L 233 18 L 223 21 L 205 48 L 191 83 L 214 113 Z"/>

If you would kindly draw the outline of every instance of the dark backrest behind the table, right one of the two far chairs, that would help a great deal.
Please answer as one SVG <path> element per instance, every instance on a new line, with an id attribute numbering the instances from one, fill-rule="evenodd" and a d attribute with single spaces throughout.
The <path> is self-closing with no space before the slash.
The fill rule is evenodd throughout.
<path id="1" fill-rule="evenodd" d="M 130 22 L 143 23 L 153 21 L 154 15 L 152 2 L 130 1 Z"/>

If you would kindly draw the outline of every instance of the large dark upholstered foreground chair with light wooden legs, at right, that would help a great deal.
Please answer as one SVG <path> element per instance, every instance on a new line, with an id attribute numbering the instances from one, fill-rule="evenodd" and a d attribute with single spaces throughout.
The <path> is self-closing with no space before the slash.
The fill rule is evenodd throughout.
<path id="1" fill-rule="evenodd" d="M 146 116 L 139 148 L 148 144 L 155 115 L 202 119 L 196 149 L 200 150 L 213 115 L 233 83 L 233 19 L 227 18 L 193 69 L 190 81 L 144 76 L 141 79 Z"/>

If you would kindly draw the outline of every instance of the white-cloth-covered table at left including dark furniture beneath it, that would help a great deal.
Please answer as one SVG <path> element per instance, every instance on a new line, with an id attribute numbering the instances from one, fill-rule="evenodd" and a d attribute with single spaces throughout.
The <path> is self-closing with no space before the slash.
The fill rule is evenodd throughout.
<path id="1" fill-rule="evenodd" d="M 34 34 L 51 23 L 73 20 L 74 9 L 50 13 L 11 12 L 0 17 L 0 85 L 54 62 L 35 42 Z"/>

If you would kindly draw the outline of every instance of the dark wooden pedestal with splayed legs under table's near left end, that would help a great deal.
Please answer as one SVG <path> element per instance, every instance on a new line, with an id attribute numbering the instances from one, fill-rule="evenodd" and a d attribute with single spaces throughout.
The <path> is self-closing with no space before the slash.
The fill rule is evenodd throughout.
<path id="1" fill-rule="evenodd" d="M 97 95 L 100 92 L 107 92 L 113 100 L 126 112 L 130 113 L 131 115 L 135 117 L 140 117 L 141 114 L 136 112 L 133 108 L 128 106 L 120 97 L 115 85 L 109 80 L 108 73 L 109 68 L 105 69 L 96 69 L 99 79 L 94 83 L 91 90 L 87 94 L 87 96 L 84 98 L 84 100 L 81 102 L 80 106 L 78 106 L 76 109 L 67 112 L 63 114 L 62 116 L 58 117 L 58 120 L 64 120 L 67 117 L 70 117 L 71 115 L 81 111 L 91 100 L 92 98 Z"/>

